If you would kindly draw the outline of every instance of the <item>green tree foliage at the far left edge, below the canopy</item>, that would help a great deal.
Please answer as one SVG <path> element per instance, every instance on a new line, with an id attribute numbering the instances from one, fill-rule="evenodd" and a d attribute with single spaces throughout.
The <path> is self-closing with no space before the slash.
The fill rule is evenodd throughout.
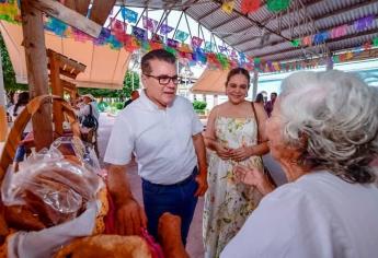
<path id="1" fill-rule="evenodd" d="M 27 91 L 27 84 L 20 84 L 15 81 L 15 73 L 11 59 L 5 47 L 4 39 L 0 34 L 0 51 L 1 51 L 1 61 L 2 61 L 2 72 L 4 80 L 4 87 L 8 94 L 13 94 L 15 91 Z"/>

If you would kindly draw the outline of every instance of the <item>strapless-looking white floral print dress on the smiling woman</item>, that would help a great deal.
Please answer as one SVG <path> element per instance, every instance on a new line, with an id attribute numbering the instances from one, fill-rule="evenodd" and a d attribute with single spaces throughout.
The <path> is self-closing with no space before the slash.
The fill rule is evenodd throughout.
<path id="1" fill-rule="evenodd" d="M 255 145 L 256 126 L 254 118 L 217 117 L 217 141 L 232 149 Z M 208 162 L 209 187 L 205 195 L 203 234 L 205 257 L 216 258 L 242 227 L 262 196 L 256 188 L 236 181 L 232 171 L 238 162 L 224 161 L 214 151 L 208 151 Z M 239 164 L 263 166 L 260 156 L 251 156 Z"/>

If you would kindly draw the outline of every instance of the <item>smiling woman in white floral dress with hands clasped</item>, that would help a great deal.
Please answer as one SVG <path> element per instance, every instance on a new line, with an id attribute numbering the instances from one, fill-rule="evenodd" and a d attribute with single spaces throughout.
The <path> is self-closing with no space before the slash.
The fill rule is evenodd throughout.
<path id="1" fill-rule="evenodd" d="M 267 116 L 261 105 L 254 106 L 262 142 L 259 144 L 252 104 L 245 101 L 249 86 L 249 72 L 242 68 L 232 69 L 226 82 L 228 102 L 214 107 L 207 122 L 209 187 L 203 225 L 206 258 L 219 257 L 262 197 L 254 187 L 238 183 L 233 175 L 237 164 L 261 168 L 261 155 L 268 152 L 264 133 Z"/>

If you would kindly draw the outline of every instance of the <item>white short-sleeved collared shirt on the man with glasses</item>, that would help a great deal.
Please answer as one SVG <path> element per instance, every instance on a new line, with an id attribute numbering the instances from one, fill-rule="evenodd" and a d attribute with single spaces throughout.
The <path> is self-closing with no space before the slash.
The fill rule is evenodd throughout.
<path id="1" fill-rule="evenodd" d="M 176 96 L 171 106 L 159 109 L 141 92 L 118 114 L 104 161 L 125 165 L 135 153 L 142 178 L 175 184 L 187 178 L 197 165 L 192 136 L 202 131 L 203 125 L 186 98 Z"/>

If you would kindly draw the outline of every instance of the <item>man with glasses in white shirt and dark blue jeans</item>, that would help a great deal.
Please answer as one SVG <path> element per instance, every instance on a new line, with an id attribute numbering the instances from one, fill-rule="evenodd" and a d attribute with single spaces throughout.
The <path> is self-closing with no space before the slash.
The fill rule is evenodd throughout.
<path id="1" fill-rule="evenodd" d="M 111 164 L 108 188 L 116 206 L 117 233 L 139 234 L 148 218 L 148 230 L 157 236 L 160 215 L 171 212 L 181 216 L 186 243 L 197 197 L 207 190 L 203 126 L 192 104 L 175 94 L 179 79 L 172 54 L 163 49 L 146 54 L 141 71 L 145 90 L 119 113 L 104 157 Z M 133 153 L 142 178 L 145 210 L 125 176 Z"/>

